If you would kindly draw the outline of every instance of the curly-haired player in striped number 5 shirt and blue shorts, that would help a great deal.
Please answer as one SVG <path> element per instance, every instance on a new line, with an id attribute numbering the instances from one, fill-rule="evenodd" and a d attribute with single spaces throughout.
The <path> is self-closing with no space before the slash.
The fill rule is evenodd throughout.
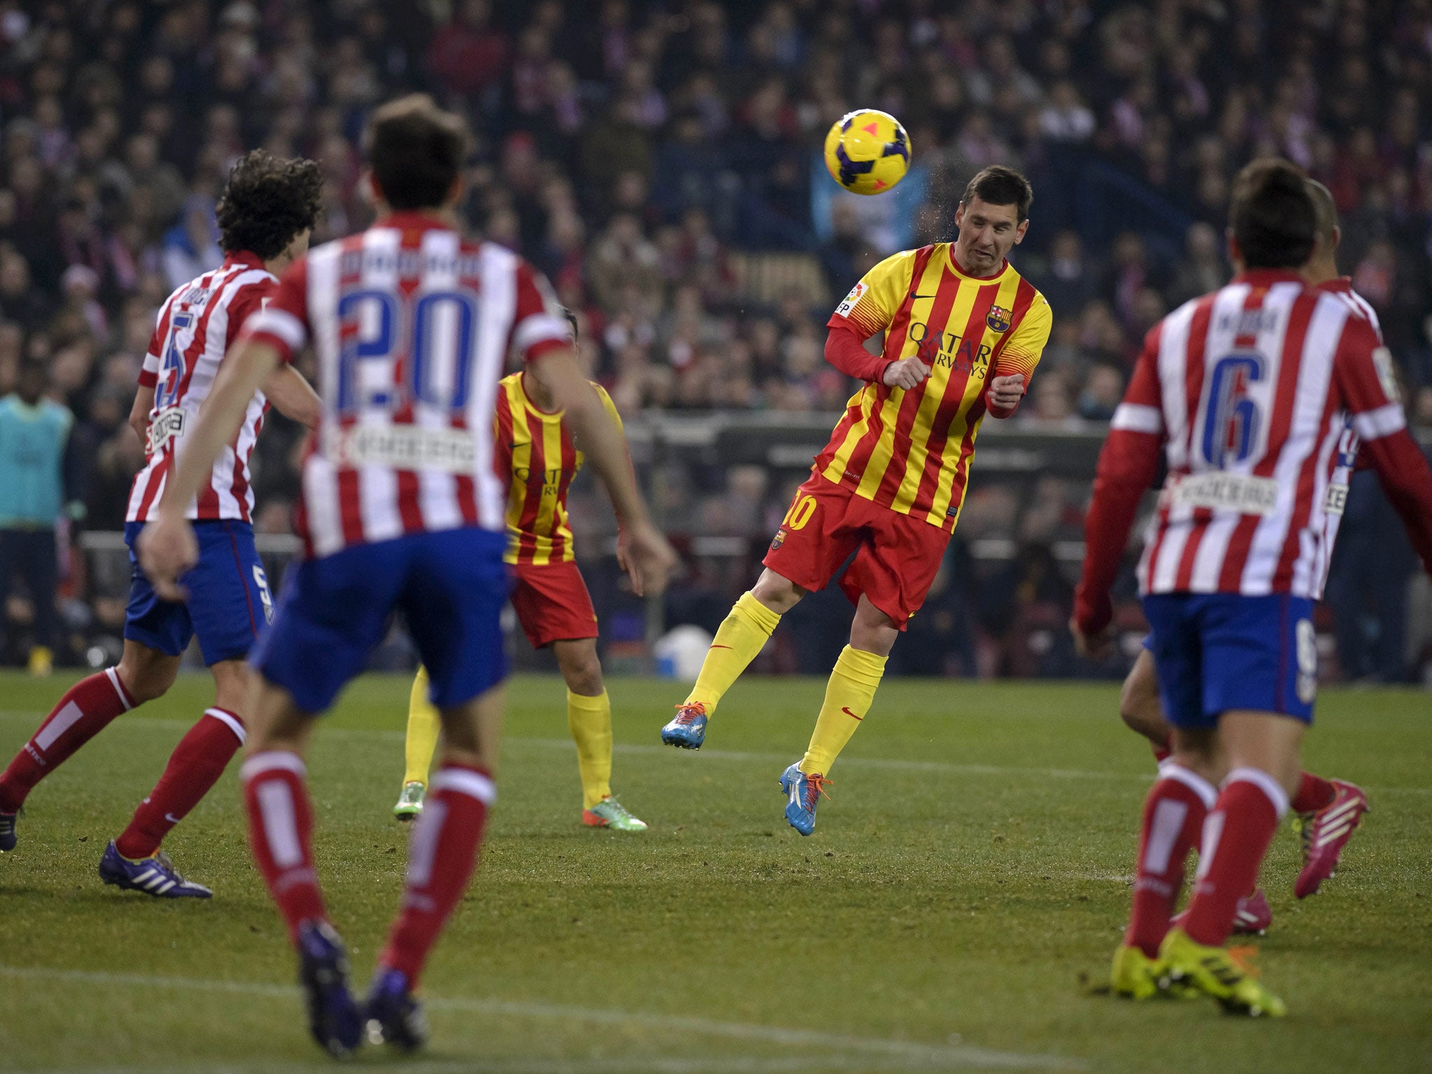
<path id="1" fill-rule="evenodd" d="M 16 813 L 44 776 L 123 712 L 162 697 L 173 686 L 189 640 L 199 639 L 213 674 L 213 707 L 180 739 L 159 783 L 105 848 L 105 884 L 159 898 L 209 898 L 186 881 L 159 843 L 223 775 L 243 743 L 248 656 L 272 614 L 263 564 L 253 548 L 249 455 L 272 402 L 305 425 L 318 422 L 318 397 L 296 369 L 279 369 L 246 398 L 243 421 L 203 481 L 183 501 L 199 541 L 183 577 L 185 594 L 165 599 L 145 579 L 135 541 L 153 518 L 175 458 L 186 447 L 200 404 L 241 326 L 278 288 L 282 274 L 308 249 L 318 218 L 322 176 L 312 160 L 278 160 L 262 149 L 239 159 L 219 198 L 223 265 L 185 284 L 159 311 L 129 421 L 146 441 L 145 468 L 135 477 L 125 523 L 133 577 L 117 667 L 83 679 L 60 697 L 24 749 L 0 775 L 0 851 L 14 849 Z"/>

